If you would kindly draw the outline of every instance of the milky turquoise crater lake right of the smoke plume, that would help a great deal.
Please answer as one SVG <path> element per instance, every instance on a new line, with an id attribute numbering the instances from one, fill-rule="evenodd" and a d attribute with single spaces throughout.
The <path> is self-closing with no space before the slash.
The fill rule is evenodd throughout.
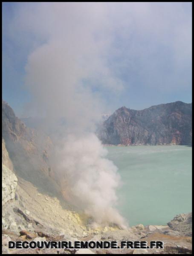
<path id="1" fill-rule="evenodd" d="M 118 167 L 119 212 L 129 225 L 166 225 L 175 215 L 191 212 L 189 146 L 107 146 Z"/>

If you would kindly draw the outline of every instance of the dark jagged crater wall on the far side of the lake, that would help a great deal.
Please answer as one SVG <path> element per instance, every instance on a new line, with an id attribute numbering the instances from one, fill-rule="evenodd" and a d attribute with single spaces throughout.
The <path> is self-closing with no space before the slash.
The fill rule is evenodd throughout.
<path id="1" fill-rule="evenodd" d="M 192 104 L 173 102 L 131 110 L 119 108 L 97 134 L 104 144 L 191 145 Z"/>

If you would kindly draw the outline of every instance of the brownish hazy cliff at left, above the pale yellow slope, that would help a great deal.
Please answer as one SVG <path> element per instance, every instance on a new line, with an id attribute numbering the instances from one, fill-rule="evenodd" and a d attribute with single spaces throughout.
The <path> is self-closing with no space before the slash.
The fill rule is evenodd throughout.
<path id="1" fill-rule="evenodd" d="M 41 131 L 28 128 L 4 101 L 2 136 L 17 176 L 38 186 L 41 191 L 60 193 L 49 163 L 51 139 Z"/>

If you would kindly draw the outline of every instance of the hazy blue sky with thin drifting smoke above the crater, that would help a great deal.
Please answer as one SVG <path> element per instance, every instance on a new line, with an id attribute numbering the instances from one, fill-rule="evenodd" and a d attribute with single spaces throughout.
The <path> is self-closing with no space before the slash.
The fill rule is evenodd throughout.
<path id="1" fill-rule="evenodd" d="M 84 97 L 87 92 L 100 99 L 102 113 L 191 103 L 191 7 L 190 2 L 5 2 L 3 99 L 19 117 L 33 115 L 30 102 L 35 106 L 47 90 L 47 106 L 52 94 L 73 97 L 72 84 Z M 61 90 L 67 84 L 68 90 Z"/>

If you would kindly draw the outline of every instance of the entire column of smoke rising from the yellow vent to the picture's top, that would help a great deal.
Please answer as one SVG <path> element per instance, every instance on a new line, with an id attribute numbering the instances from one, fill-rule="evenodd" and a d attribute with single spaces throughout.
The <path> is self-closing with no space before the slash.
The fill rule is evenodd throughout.
<path id="1" fill-rule="evenodd" d="M 64 196 L 92 217 L 93 223 L 124 227 L 124 219 L 115 208 L 120 177 L 95 135 L 105 104 L 91 81 L 110 90 L 118 89 L 121 82 L 102 58 L 106 42 L 102 44 L 95 38 L 99 24 L 93 21 L 95 16 L 91 19 L 92 14 L 88 15 L 88 6 L 80 6 L 84 12 L 74 4 L 51 6 L 55 8 L 56 29 L 52 30 L 49 23 L 49 37 L 35 47 L 26 64 L 25 84 L 32 95 L 30 108 L 43 117 L 44 128 L 54 133 L 54 168 Z M 47 11 L 50 13 L 51 9 Z"/>

